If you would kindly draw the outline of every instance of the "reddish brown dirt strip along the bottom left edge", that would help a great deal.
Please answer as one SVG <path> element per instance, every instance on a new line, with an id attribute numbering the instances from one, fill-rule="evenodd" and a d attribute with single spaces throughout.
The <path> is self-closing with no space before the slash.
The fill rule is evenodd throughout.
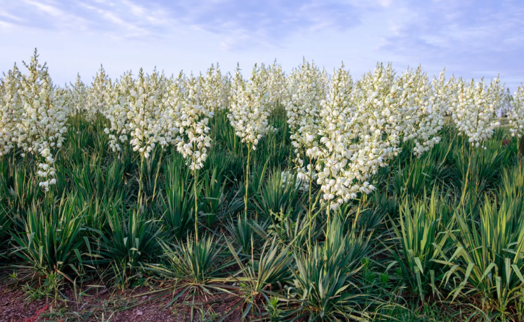
<path id="1" fill-rule="evenodd" d="M 78 304 L 74 300 L 72 290 L 66 290 L 63 293 L 69 301 L 60 296 L 57 305 L 55 305 L 54 298 L 48 299 L 47 303 L 45 298 L 29 301 L 20 286 L 9 287 L 5 284 L 5 281 L 1 281 L 0 322 L 77 321 L 78 318 L 75 317 L 75 313 L 79 313 L 80 316 L 87 318 L 86 321 L 90 322 L 102 321 L 102 313 L 104 314 L 104 321 L 111 322 L 191 320 L 191 308 L 181 298 L 175 304 L 162 310 L 162 307 L 171 302 L 172 293 L 159 298 L 155 298 L 158 294 L 140 296 L 140 294 L 148 293 L 152 289 L 154 288 L 142 287 L 125 293 L 119 291 L 111 293 L 106 289 L 99 292 L 91 291 L 88 292 L 90 296 L 85 296 L 82 303 Z M 186 300 L 191 302 L 191 299 Z M 219 319 L 234 305 L 233 300 L 234 298 L 230 295 L 224 294 L 205 298 L 203 296 L 195 297 L 194 302 L 202 304 L 195 305 L 193 320 L 201 321 L 202 311 L 206 313 L 206 318 L 210 318 L 210 321 Z M 236 311 L 228 316 L 225 321 L 238 321 L 241 312 Z"/>

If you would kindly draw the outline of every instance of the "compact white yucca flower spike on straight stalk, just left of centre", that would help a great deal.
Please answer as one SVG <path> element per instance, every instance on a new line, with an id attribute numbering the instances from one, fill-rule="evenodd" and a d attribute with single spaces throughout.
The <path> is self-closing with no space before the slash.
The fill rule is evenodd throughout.
<path id="1" fill-rule="evenodd" d="M 257 68 L 255 64 L 248 81 L 244 81 L 238 66 L 233 79 L 232 101 L 227 117 L 242 143 L 253 149 L 270 129 L 270 96 L 266 77 L 264 67 Z"/>

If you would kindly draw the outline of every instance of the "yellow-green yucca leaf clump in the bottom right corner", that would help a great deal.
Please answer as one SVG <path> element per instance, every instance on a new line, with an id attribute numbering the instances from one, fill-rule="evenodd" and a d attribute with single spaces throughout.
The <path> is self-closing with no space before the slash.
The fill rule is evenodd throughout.
<path id="1" fill-rule="evenodd" d="M 479 221 L 474 213 L 456 212 L 458 231 L 451 233 L 456 250 L 451 256 L 442 252 L 439 261 L 450 267 L 443 282 L 459 282 L 452 300 L 473 297 L 472 305 L 490 318 L 507 319 L 524 287 L 524 220 L 516 208 L 514 202 L 497 205 L 485 194 Z"/>

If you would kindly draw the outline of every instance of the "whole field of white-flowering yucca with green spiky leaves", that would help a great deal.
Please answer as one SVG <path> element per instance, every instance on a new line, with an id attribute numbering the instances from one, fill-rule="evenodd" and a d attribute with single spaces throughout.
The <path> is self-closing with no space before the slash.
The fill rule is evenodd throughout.
<path id="1" fill-rule="evenodd" d="M 46 307 L 20 321 L 524 320 L 522 89 L 24 65 L 0 83 L 0 298 Z"/>

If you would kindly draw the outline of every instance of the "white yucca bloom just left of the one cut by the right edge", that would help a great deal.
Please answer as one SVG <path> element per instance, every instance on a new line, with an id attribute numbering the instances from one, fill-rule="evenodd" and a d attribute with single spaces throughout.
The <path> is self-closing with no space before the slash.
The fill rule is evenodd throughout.
<path id="1" fill-rule="evenodd" d="M 452 104 L 452 119 L 459 134 L 466 135 L 472 146 L 482 146 L 500 126 L 498 112 L 504 99 L 504 89 L 498 78 L 486 86 L 484 79 L 456 83 L 456 96 Z"/>

